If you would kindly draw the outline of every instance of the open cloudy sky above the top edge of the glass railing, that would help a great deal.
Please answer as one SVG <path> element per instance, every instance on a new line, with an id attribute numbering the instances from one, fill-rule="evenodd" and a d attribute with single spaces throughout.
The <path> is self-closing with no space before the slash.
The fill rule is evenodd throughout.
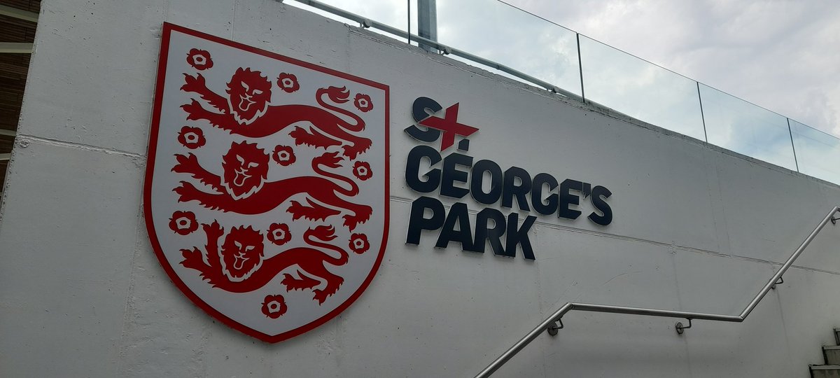
<path id="1" fill-rule="evenodd" d="M 837 0 L 506 0 L 840 136 Z"/>

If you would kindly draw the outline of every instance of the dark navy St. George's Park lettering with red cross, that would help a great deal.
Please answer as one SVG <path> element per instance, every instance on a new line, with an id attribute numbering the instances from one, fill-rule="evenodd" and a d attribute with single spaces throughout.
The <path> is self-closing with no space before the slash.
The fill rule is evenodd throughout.
<path id="1" fill-rule="evenodd" d="M 433 115 L 441 110 L 444 107 L 428 97 L 417 97 L 412 105 L 412 117 L 416 123 L 405 131 L 417 141 L 426 143 L 408 153 L 406 183 L 413 190 L 437 192 L 440 196 L 457 199 L 469 194 L 482 205 L 501 203 L 501 207 L 512 208 L 516 203 L 524 212 L 567 219 L 580 217 L 582 212 L 576 207 L 583 198 L 589 199 L 596 209 L 586 218 L 603 226 L 612 223 L 612 208 L 606 202 L 612 192 L 606 187 L 573 179 L 558 181 L 548 173 L 534 176 L 517 166 L 502 171 L 501 166 L 492 160 L 475 160 L 466 155 L 470 150 L 470 139 L 466 138 L 479 129 L 458 122 L 459 103 L 446 108 L 443 117 Z M 457 151 L 452 151 L 450 147 L 455 144 L 456 137 L 460 139 Z M 439 150 L 427 145 L 438 139 Z M 506 216 L 496 208 L 484 207 L 476 214 L 473 225 L 470 224 L 466 203 L 455 202 L 446 212 L 444 204 L 438 199 L 423 196 L 412 202 L 409 217 L 408 244 L 420 244 L 424 230 L 437 231 L 438 239 L 434 245 L 438 248 L 458 242 L 466 251 L 483 253 L 486 245 L 490 244 L 495 255 L 514 257 L 519 246 L 525 259 L 535 260 L 528 239 L 528 230 L 537 220 L 533 215 L 526 216 L 519 223 L 518 213 Z"/>

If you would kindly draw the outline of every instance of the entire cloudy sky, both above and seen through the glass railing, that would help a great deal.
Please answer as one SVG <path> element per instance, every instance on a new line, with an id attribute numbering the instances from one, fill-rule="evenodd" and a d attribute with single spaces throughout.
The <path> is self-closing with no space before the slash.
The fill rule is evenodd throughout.
<path id="1" fill-rule="evenodd" d="M 321 1 L 403 30 L 411 8 L 417 34 L 417 0 Z M 577 95 L 582 76 L 589 101 L 840 183 L 840 1 L 504 1 L 436 0 L 438 41 Z"/>

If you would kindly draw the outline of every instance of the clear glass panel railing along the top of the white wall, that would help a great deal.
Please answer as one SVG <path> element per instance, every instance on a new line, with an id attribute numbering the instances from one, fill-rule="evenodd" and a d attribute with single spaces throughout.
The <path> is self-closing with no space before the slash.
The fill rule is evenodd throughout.
<path id="1" fill-rule="evenodd" d="M 348 21 L 302 3 L 286 3 Z M 417 34 L 417 0 L 328 0 L 321 3 Z M 469 13 L 465 9 L 469 9 Z M 507 3 L 437 0 L 437 26 L 440 44 L 525 74 L 515 76 L 501 72 L 501 75 L 520 81 L 544 81 L 585 102 L 596 102 L 643 122 L 840 184 L 840 139 L 837 137 Z M 455 59 L 470 61 L 463 57 Z M 475 62 L 470 64 L 481 66 Z"/>

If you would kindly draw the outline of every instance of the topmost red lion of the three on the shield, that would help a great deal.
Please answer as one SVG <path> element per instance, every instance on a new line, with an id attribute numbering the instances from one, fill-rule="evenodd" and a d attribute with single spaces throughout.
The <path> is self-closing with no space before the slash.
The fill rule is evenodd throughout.
<path id="1" fill-rule="evenodd" d="M 181 91 L 195 92 L 203 100 L 207 101 L 219 112 L 216 113 L 202 107 L 195 99 L 191 103 L 182 105 L 186 111 L 188 120 L 206 119 L 213 126 L 224 129 L 231 134 L 239 134 L 249 138 L 261 138 L 275 134 L 292 123 L 308 122 L 317 129 L 322 130 L 329 136 L 319 133 L 317 130 L 307 131 L 299 126 L 289 133 L 295 139 L 295 143 L 307 144 L 316 148 L 328 148 L 333 145 L 340 145 L 342 141 L 349 143 L 344 145 L 344 155 L 354 160 L 357 155 L 370 148 L 370 139 L 350 134 L 358 133 L 365 129 L 365 121 L 350 112 L 339 108 L 328 102 L 324 102 L 326 95 L 332 102 L 344 103 L 349 101 L 349 91 L 345 87 L 320 88 L 315 93 L 318 104 L 323 108 L 309 105 L 278 105 L 271 106 L 271 82 L 260 71 L 251 71 L 250 68 L 238 68 L 234 76 L 228 82 L 228 97 L 218 95 L 207 88 L 204 76 L 190 76 L 184 74 L 185 84 Z M 352 118 L 353 123 L 347 122 L 344 118 L 324 110 L 332 110 L 335 113 Z"/>

